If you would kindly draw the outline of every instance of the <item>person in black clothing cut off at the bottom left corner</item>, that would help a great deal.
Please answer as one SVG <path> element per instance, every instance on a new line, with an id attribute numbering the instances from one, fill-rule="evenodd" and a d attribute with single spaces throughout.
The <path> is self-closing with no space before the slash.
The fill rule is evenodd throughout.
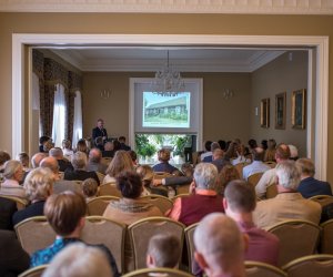
<path id="1" fill-rule="evenodd" d="M 30 257 L 26 253 L 16 233 L 0 229 L 0 276 L 13 277 L 29 268 Z"/>

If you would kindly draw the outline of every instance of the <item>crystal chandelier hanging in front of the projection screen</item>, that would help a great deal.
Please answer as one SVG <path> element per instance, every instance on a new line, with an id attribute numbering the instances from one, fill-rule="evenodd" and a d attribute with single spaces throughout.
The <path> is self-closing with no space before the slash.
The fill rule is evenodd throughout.
<path id="1" fill-rule="evenodd" d="M 167 64 L 162 70 L 157 71 L 155 78 L 151 83 L 153 93 L 162 96 L 176 96 L 185 89 L 185 83 L 182 80 L 180 72 L 173 70 L 169 64 L 169 50 Z"/>

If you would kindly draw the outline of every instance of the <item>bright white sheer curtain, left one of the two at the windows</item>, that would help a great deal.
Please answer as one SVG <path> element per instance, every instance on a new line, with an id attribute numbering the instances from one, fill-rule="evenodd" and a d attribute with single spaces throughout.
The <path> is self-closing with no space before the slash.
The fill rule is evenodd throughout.
<path id="1" fill-rule="evenodd" d="M 65 129 L 64 121 L 65 121 L 64 86 L 62 84 L 56 84 L 52 138 L 56 146 L 58 147 L 61 147 L 62 140 L 64 138 L 64 129 Z"/>

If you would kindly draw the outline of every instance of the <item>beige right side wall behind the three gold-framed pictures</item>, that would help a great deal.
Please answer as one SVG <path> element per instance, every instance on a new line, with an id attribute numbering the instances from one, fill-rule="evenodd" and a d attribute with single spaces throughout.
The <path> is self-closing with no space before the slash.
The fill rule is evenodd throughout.
<path id="1" fill-rule="evenodd" d="M 290 53 L 292 60 L 290 61 Z M 307 88 L 307 52 L 286 52 L 269 64 L 252 73 L 251 98 L 251 136 L 261 141 L 275 138 L 278 143 L 294 144 L 300 151 L 300 156 L 306 155 L 306 130 L 292 129 L 291 98 L 292 92 Z M 275 129 L 275 94 L 286 92 L 285 130 Z M 270 127 L 260 126 L 260 102 L 270 99 Z M 259 115 L 254 115 L 255 107 Z"/>

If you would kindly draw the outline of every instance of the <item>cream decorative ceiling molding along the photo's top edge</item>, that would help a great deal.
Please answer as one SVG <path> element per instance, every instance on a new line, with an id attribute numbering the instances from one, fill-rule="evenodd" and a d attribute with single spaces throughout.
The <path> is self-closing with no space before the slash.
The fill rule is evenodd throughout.
<path id="1" fill-rule="evenodd" d="M 333 0 L 0 0 L 0 12 L 333 14 Z"/>

